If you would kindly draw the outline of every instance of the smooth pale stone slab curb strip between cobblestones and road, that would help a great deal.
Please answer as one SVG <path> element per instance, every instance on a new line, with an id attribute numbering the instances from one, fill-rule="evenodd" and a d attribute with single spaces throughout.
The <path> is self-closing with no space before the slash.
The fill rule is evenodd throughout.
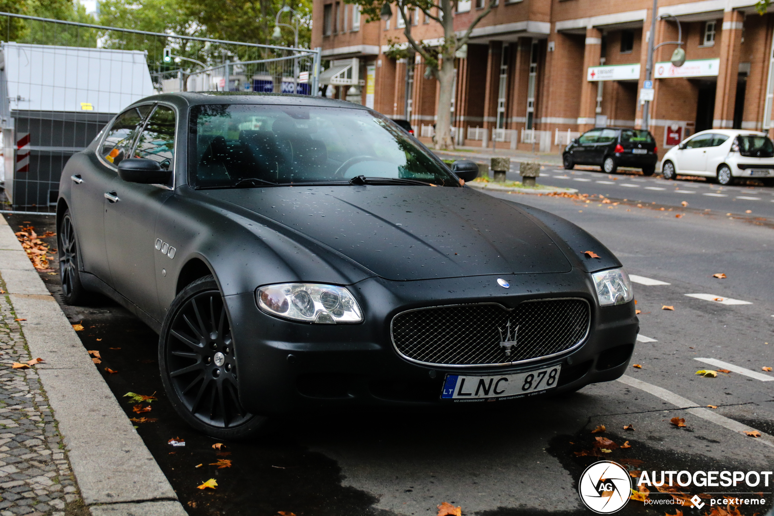
<path id="1" fill-rule="evenodd" d="M 80 339 L 0 217 L 0 275 L 20 319 L 67 448 L 84 504 L 94 516 L 185 516 L 156 460 L 94 367 Z M 91 507 L 94 506 L 94 507 Z"/>

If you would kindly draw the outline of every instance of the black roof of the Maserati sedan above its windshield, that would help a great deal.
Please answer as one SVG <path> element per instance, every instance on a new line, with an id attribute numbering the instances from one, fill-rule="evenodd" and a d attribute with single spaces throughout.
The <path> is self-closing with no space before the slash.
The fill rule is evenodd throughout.
<path id="1" fill-rule="evenodd" d="M 166 101 L 175 104 L 179 108 L 187 108 L 202 104 L 269 104 L 269 105 L 295 105 L 318 106 L 328 108 L 364 109 L 361 104 L 348 101 L 339 101 L 327 97 L 313 97 L 311 95 L 297 95 L 288 93 L 259 93 L 254 91 L 202 91 L 163 93 L 142 98 L 134 104 L 146 104 L 154 101 Z"/>

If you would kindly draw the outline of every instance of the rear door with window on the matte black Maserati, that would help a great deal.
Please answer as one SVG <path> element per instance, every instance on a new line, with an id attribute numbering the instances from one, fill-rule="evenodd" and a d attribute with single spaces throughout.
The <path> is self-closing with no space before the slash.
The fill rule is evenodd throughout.
<path id="1" fill-rule="evenodd" d="M 150 106 L 140 106 L 118 114 L 105 130 L 88 165 L 70 176 L 74 183 L 70 210 L 84 271 L 108 285 L 112 285 L 112 280 L 104 241 L 104 193 L 116 178 L 115 165 L 131 149 L 149 111 Z"/>

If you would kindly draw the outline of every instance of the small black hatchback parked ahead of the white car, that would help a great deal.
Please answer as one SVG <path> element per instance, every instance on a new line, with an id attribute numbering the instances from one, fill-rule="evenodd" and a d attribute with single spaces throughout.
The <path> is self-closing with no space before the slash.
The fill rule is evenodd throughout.
<path id="1" fill-rule="evenodd" d="M 652 176 L 659 161 L 658 151 L 656 138 L 649 131 L 594 128 L 567 145 L 562 161 L 568 170 L 576 165 L 599 165 L 604 172 L 612 174 L 619 166 L 629 166 Z"/>

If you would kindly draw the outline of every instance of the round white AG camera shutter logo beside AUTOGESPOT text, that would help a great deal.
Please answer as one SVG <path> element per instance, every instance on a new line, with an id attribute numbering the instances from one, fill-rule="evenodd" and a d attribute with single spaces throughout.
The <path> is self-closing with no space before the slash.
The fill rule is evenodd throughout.
<path id="1" fill-rule="evenodd" d="M 620 511 L 628 502 L 632 479 L 620 464 L 609 460 L 593 463 L 580 475 L 580 501 L 597 514 Z"/>

